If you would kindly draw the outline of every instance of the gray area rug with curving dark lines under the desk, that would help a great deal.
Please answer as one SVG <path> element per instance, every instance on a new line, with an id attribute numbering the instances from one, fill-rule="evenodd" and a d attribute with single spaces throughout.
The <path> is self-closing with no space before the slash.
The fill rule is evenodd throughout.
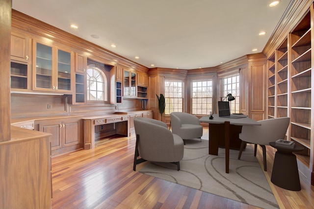
<path id="1" fill-rule="evenodd" d="M 149 162 L 139 172 L 252 206 L 279 208 L 251 146 L 240 160 L 239 151 L 230 150 L 229 174 L 225 173 L 225 149 L 219 148 L 214 156 L 208 154 L 208 147 L 208 140 L 186 140 L 180 171 L 172 163 Z"/>

